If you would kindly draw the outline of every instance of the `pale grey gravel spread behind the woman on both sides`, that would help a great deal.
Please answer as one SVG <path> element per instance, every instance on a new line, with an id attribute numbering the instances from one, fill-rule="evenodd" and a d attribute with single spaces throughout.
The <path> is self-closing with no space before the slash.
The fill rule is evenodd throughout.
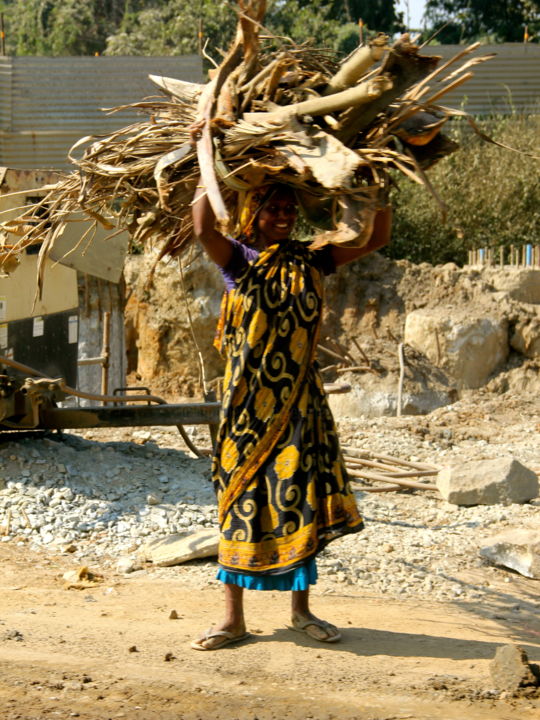
<path id="1" fill-rule="evenodd" d="M 490 441 L 468 407 L 466 421 L 462 403 L 429 418 L 343 419 L 340 434 L 344 445 L 435 465 L 501 454 L 540 465 L 534 414 L 518 417 L 501 435 L 492 429 Z M 208 445 L 205 428 L 189 432 L 196 444 Z M 216 582 L 213 562 L 160 569 L 137 564 L 146 542 L 217 524 L 210 461 L 194 458 L 176 430 L 3 438 L 0 463 L 2 542 L 69 550 L 74 563 L 129 570 L 132 577 L 158 572 L 199 585 Z M 537 527 L 540 518 L 538 498 L 471 508 L 450 505 L 434 491 L 359 491 L 358 499 L 366 529 L 321 554 L 322 591 L 344 584 L 389 597 L 477 601 L 490 591 L 490 573 L 504 572 L 484 565 L 478 554 L 483 540 L 512 527 Z"/>

